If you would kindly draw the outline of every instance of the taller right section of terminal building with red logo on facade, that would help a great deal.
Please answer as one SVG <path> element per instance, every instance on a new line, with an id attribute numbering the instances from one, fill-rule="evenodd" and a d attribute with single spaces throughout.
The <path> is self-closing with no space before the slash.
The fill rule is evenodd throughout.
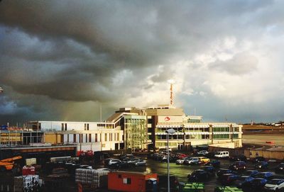
<path id="1" fill-rule="evenodd" d="M 136 114 L 127 117 L 126 114 Z M 202 116 L 185 115 L 182 108 L 161 105 L 146 109 L 120 108 L 113 116 L 121 117 L 121 129 L 124 135 L 136 135 L 136 137 L 124 137 L 124 143 L 136 142 L 137 145 L 126 145 L 126 148 L 165 149 L 167 145 L 166 130 L 173 128 L 175 134 L 169 135 L 169 146 L 174 149 L 190 149 L 197 145 L 214 145 L 218 147 L 241 147 L 242 125 L 236 123 L 203 123 Z M 146 118 L 147 133 L 141 129 L 127 128 L 134 126 L 137 116 Z M 126 125 L 126 122 L 128 124 Z M 132 124 L 131 124 L 132 123 Z M 140 137 L 138 137 L 141 132 Z M 147 134 L 148 137 L 145 137 Z M 138 139 L 136 139 L 138 138 Z"/>

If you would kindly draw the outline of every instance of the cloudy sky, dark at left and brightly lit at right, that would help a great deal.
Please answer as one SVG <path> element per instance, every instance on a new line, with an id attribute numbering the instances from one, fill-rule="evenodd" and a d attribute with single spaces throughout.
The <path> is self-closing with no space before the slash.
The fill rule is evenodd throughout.
<path id="1" fill-rule="evenodd" d="M 0 1 L 0 124 L 170 103 L 284 119 L 284 1 Z M 21 125 L 21 124 L 20 124 Z"/>

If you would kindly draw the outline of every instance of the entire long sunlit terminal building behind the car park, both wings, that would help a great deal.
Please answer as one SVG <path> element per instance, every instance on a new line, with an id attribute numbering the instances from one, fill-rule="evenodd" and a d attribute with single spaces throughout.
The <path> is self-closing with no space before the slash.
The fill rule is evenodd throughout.
<path id="1" fill-rule="evenodd" d="M 172 149 L 197 145 L 241 147 L 242 125 L 204 123 L 202 116 L 185 115 L 182 108 L 162 105 L 120 108 L 104 122 L 33 121 L 32 130 L 44 132 L 43 142 L 76 144 L 77 150 L 165 149 L 167 134 Z"/>

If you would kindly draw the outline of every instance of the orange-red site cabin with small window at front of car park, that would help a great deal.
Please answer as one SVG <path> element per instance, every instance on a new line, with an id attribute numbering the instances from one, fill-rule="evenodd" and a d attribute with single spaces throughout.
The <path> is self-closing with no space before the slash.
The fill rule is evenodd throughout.
<path id="1" fill-rule="evenodd" d="M 146 181 L 157 179 L 157 174 L 131 171 L 114 171 L 108 174 L 108 188 L 112 191 L 146 191 Z"/>

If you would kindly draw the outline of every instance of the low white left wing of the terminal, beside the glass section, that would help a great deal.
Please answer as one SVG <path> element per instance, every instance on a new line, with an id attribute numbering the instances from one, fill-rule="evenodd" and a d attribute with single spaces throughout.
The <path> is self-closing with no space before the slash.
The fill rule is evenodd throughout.
<path id="1" fill-rule="evenodd" d="M 117 123 L 33 121 L 28 123 L 28 127 L 43 131 L 43 142 L 77 145 L 78 151 L 124 148 L 124 132 Z"/>

